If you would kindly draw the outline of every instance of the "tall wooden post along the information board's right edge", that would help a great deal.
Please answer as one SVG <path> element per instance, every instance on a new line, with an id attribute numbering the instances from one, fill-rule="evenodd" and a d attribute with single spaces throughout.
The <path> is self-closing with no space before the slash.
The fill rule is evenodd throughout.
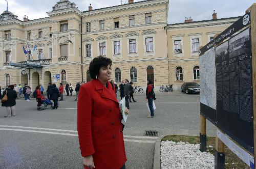
<path id="1" fill-rule="evenodd" d="M 254 169 L 256 169 L 256 3 L 246 10 L 251 15 L 251 59 L 252 59 L 252 105 L 253 105 L 253 149 L 254 149 Z"/>

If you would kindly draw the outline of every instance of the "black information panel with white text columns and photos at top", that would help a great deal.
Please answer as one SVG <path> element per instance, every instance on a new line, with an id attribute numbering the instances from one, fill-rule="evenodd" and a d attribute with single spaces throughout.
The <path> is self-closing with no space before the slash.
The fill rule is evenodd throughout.
<path id="1" fill-rule="evenodd" d="M 216 47 L 217 127 L 253 152 L 250 28 Z"/>

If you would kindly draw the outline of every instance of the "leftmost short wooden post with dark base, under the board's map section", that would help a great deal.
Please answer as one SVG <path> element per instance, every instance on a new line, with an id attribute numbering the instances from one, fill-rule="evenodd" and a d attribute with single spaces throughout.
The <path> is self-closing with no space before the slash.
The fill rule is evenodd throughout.
<path id="1" fill-rule="evenodd" d="M 206 119 L 200 115 L 200 151 L 206 152 Z"/>

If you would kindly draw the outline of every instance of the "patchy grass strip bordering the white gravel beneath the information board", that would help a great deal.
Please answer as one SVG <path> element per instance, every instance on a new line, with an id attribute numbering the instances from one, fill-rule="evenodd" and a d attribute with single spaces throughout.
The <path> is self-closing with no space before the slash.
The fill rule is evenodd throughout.
<path id="1" fill-rule="evenodd" d="M 215 137 L 207 137 L 207 152 L 214 155 L 215 153 Z M 199 144 L 199 136 L 188 136 L 188 135 L 166 135 L 161 139 L 161 142 L 166 140 L 172 140 L 173 142 L 184 142 L 189 144 Z M 210 148 L 208 146 L 212 146 Z M 225 146 L 225 168 L 245 168 L 250 167 L 244 163 L 236 154 L 234 154 L 228 147 Z"/>

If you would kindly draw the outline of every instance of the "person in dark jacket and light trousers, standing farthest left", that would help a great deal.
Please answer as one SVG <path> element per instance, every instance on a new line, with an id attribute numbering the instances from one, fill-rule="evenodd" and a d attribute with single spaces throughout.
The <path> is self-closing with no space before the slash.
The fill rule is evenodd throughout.
<path id="1" fill-rule="evenodd" d="M 8 89 L 6 89 L 6 91 L 4 91 L 4 93 L 1 97 L 1 99 L 5 95 L 7 95 L 7 97 L 8 97 L 8 100 L 2 103 L 2 106 L 5 106 L 6 110 L 7 110 L 7 114 L 6 114 L 5 118 L 11 117 L 11 116 L 16 116 L 15 105 L 16 105 L 17 93 L 13 89 L 14 89 L 13 85 L 8 86 Z"/>

